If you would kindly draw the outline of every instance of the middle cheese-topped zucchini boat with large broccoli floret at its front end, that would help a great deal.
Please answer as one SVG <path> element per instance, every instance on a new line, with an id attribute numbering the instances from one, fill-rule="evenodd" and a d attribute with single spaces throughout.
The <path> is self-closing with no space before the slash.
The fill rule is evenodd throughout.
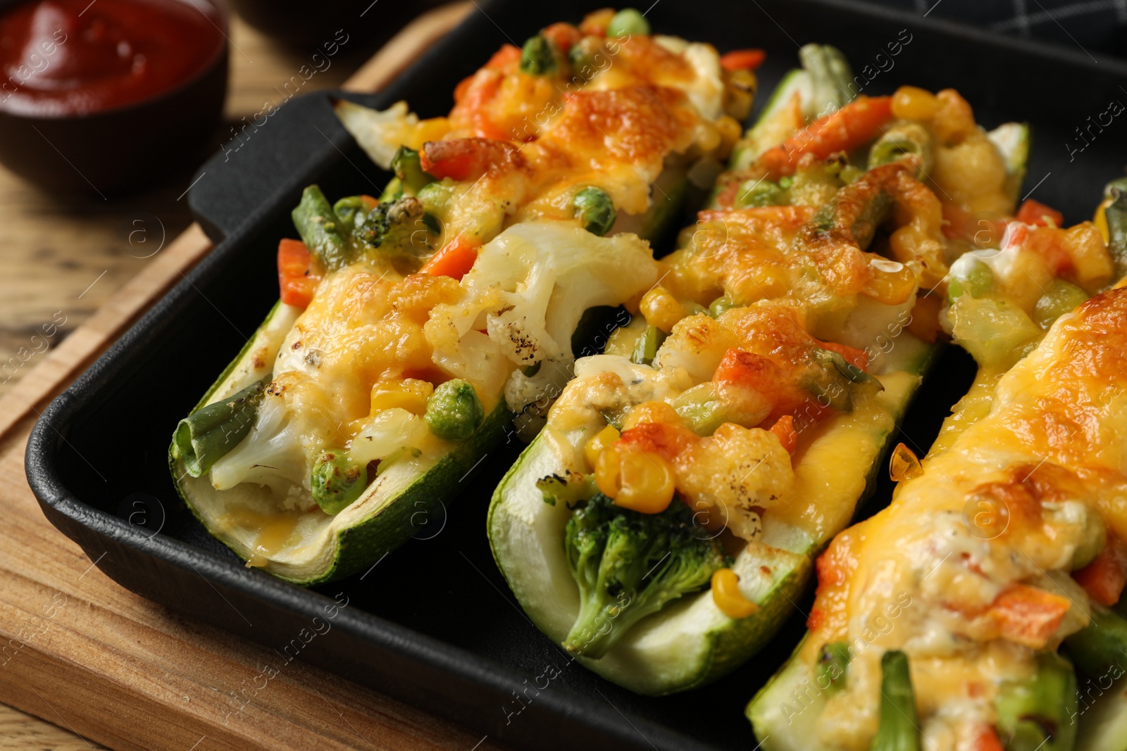
<path id="1" fill-rule="evenodd" d="M 804 52 L 806 75 L 848 78 Z M 932 357 L 948 258 L 970 248 L 944 214 L 1013 211 L 1023 157 L 957 92 L 835 109 L 806 97 L 838 87 L 786 80 L 736 147 L 754 160 L 720 177 L 637 320 L 576 364 L 490 506 L 532 622 L 640 694 L 722 676 L 786 619 Z"/>

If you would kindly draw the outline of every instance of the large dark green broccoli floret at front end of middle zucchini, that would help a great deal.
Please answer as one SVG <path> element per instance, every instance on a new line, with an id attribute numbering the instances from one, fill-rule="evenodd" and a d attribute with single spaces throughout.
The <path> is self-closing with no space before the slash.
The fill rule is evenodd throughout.
<path id="1" fill-rule="evenodd" d="M 727 564 L 720 543 L 676 499 L 662 513 L 639 513 L 595 493 L 568 520 L 564 546 L 580 604 L 564 646 L 594 659 Z"/>

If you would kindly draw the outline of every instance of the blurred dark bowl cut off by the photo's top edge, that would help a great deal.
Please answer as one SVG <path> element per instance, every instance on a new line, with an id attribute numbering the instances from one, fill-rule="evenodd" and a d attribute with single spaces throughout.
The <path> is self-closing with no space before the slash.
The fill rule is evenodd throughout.
<path id="1" fill-rule="evenodd" d="M 366 48 L 385 42 L 412 18 L 449 0 L 230 0 L 245 21 L 263 34 L 300 47 L 316 47 L 343 29 Z"/>

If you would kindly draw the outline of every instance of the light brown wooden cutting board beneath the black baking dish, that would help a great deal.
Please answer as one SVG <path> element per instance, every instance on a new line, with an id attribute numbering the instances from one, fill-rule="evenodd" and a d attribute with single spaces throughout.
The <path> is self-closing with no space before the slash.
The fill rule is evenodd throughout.
<path id="1" fill-rule="evenodd" d="M 384 86 L 471 9 L 420 17 L 347 88 Z M 298 662 L 232 714 L 273 653 L 118 587 L 44 518 L 24 474 L 37 414 L 210 249 L 192 225 L 0 399 L 0 701 L 121 751 L 499 748 Z"/>

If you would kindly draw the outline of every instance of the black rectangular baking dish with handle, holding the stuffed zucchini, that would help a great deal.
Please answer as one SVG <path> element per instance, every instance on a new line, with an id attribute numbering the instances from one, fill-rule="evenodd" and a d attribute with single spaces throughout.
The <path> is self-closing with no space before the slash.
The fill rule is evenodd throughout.
<path id="1" fill-rule="evenodd" d="M 499 45 L 602 5 L 485 3 L 388 90 L 348 96 L 378 108 L 407 99 L 421 116 L 442 114 L 458 81 Z M 1097 62 L 1079 47 L 827 0 L 664 0 L 648 18 L 659 33 L 721 51 L 766 48 L 763 92 L 795 64 L 799 44 L 826 42 L 850 57 L 864 93 L 908 82 L 951 86 L 987 127 L 1027 119 L 1035 137 L 1022 195 L 1036 188 L 1070 223 L 1090 216 L 1101 186 L 1127 162 L 1127 125 L 1100 119 L 1109 102 L 1127 101 L 1127 65 Z M 274 250 L 293 234 L 289 213 L 301 188 L 371 193 L 388 178 L 337 124 L 332 96 L 294 98 L 245 129 L 238 151 L 204 166 L 192 204 L 218 248 L 55 400 L 32 433 L 27 474 L 47 518 L 122 585 L 267 646 L 287 644 L 343 592 L 347 607 L 302 660 L 512 746 L 753 748 L 744 705 L 796 643 L 802 616 L 796 611 L 748 665 L 685 695 L 636 696 L 570 664 L 524 618 L 485 537 L 489 493 L 515 458 L 515 441 L 482 462 L 467 497 L 417 539 L 364 575 L 317 590 L 243 567 L 181 510 L 165 459 L 169 436 L 276 299 Z M 904 426 L 920 452 L 973 372 L 953 349 L 939 367 L 948 372 Z M 886 484 L 868 510 L 887 498 Z"/>

